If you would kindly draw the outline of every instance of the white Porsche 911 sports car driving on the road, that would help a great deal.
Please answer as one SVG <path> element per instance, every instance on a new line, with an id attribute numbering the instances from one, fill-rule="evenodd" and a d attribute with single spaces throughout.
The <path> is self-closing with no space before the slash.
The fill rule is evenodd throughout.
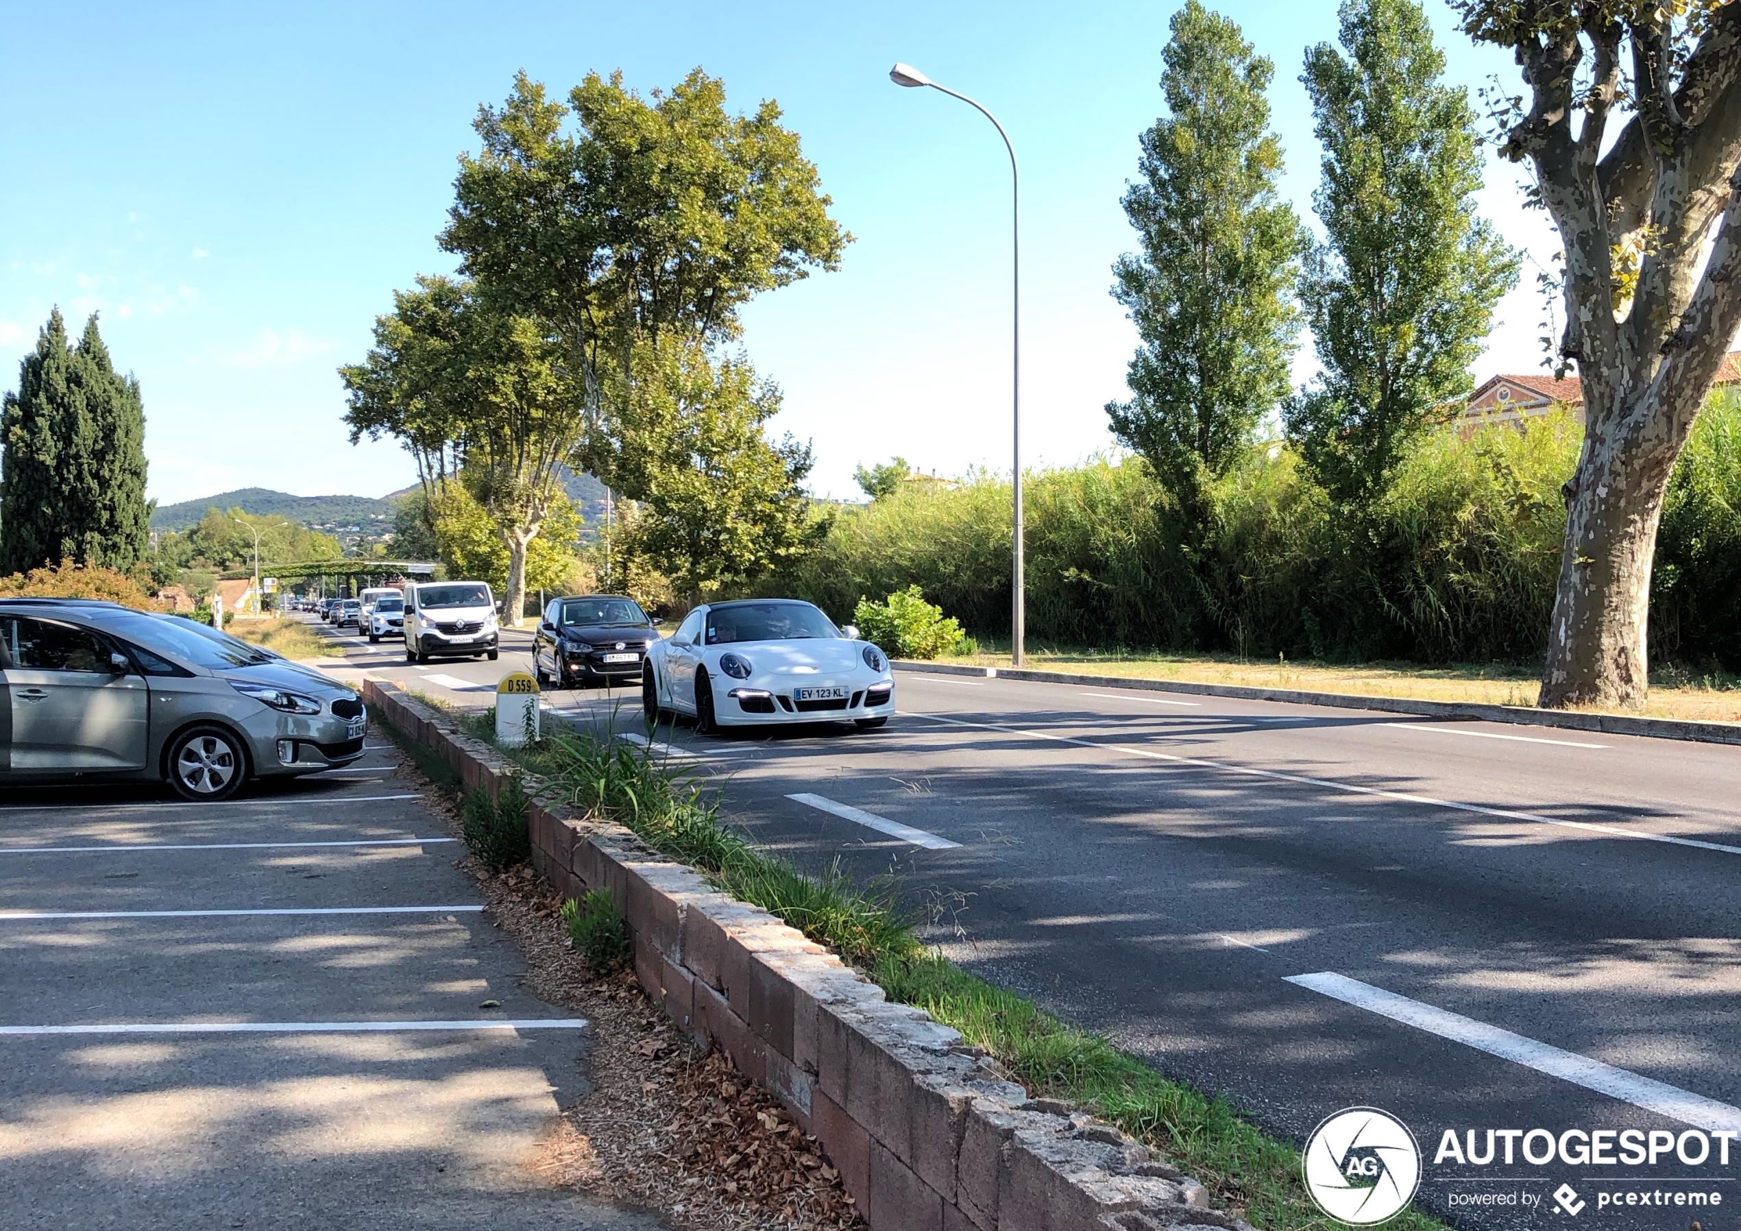
<path id="1" fill-rule="evenodd" d="M 700 730 L 846 721 L 895 712 L 888 656 L 810 602 L 749 599 L 691 611 L 648 648 L 641 702 L 649 723 L 676 710 Z"/>

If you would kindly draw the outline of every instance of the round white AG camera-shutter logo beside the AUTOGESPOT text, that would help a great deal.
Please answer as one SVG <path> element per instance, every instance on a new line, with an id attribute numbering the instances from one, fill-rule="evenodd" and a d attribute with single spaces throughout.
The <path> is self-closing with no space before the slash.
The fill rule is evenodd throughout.
<path id="1" fill-rule="evenodd" d="M 1306 1139 L 1304 1179 L 1306 1191 L 1332 1219 L 1372 1226 L 1414 1200 L 1421 1146 L 1391 1113 L 1344 1107 Z"/>

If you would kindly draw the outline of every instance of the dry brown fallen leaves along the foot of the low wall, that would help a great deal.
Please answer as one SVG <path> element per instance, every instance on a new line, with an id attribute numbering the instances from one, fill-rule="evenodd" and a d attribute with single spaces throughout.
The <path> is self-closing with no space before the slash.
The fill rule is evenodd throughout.
<path id="1" fill-rule="evenodd" d="M 409 763 L 400 771 L 420 777 Z M 451 801 L 437 799 L 456 825 Z M 526 987 L 592 1024 L 592 1093 L 564 1113 L 534 1172 L 658 1210 L 681 1228 L 864 1228 L 815 1137 L 773 1095 L 723 1053 L 695 1048 L 632 973 L 592 977 L 569 945 L 559 897 L 531 869 L 489 876 L 475 860 L 461 867 L 524 952 Z"/>

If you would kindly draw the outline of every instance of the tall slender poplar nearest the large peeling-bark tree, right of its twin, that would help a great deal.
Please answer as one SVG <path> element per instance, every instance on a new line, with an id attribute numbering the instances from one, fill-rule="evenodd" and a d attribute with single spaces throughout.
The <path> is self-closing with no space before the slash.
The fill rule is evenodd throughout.
<path id="1" fill-rule="evenodd" d="M 1469 392 L 1516 254 L 1475 211 L 1480 138 L 1466 91 L 1414 0 L 1344 0 L 1346 56 L 1306 50 L 1323 143 L 1327 240 L 1301 301 L 1323 373 L 1287 407 L 1313 475 L 1344 505 L 1377 498 L 1408 442 Z"/>

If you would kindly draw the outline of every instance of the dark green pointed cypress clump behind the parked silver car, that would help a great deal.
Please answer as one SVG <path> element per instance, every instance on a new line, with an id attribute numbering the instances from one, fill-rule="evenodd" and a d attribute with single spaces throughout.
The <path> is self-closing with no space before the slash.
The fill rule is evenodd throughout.
<path id="1" fill-rule="evenodd" d="M 0 575 L 73 559 L 131 571 L 148 550 L 145 404 L 96 315 L 77 346 L 59 308 L 0 413 Z"/>

